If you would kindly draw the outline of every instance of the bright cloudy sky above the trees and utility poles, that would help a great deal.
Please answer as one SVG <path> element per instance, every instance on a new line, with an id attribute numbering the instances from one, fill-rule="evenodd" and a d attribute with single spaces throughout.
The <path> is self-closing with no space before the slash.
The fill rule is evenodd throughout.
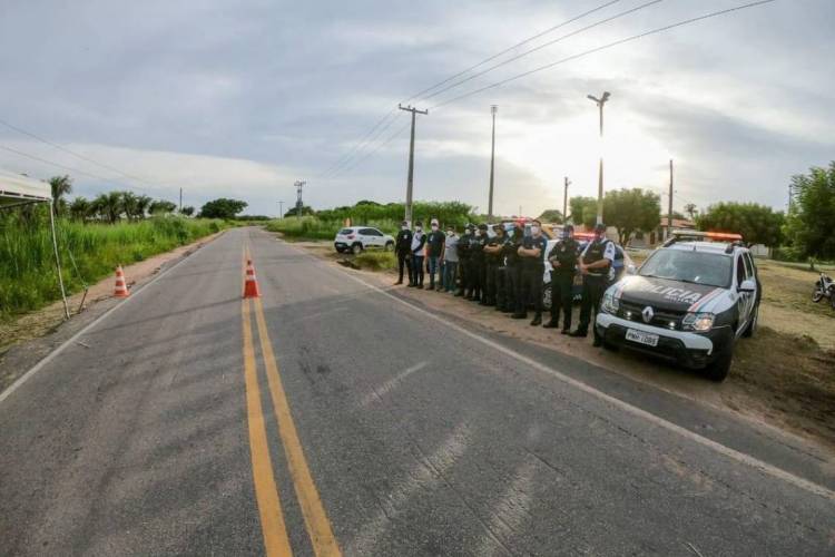
<path id="1" fill-rule="evenodd" d="M 252 214 L 286 208 L 296 179 L 315 208 L 402 201 L 409 116 L 392 108 L 409 100 L 430 110 L 418 119 L 415 198 L 485 211 L 495 104 L 498 213 L 561 207 L 566 175 L 571 195 L 595 195 L 601 152 L 607 188 L 666 190 L 671 157 L 679 209 L 723 199 L 783 208 L 790 175 L 835 159 L 832 0 L 777 0 L 443 104 L 745 1 L 4 0 L 0 119 L 106 166 L 0 125 L 0 168 L 68 173 L 87 196 L 122 188 L 176 201 L 183 187 L 186 204 L 237 197 Z M 410 99 L 603 3 L 475 71 L 570 37 Z M 603 90 L 601 144 L 586 95 Z M 386 115 L 379 139 L 363 143 Z"/>

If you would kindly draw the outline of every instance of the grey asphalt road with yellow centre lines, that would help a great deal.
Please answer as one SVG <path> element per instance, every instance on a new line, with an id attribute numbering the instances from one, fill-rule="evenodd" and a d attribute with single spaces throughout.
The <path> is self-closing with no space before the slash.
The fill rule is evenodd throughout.
<path id="1" fill-rule="evenodd" d="M 0 399 L 0 555 L 835 555 L 832 462 L 554 358 L 230 231 Z"/>

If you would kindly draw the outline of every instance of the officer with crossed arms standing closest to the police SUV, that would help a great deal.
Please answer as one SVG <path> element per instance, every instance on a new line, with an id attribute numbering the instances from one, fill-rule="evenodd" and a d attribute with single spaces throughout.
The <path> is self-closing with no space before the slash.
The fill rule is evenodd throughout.
<path id="1" fill-rule="evenodd" d="M 609 268 L 615 261 L 615 244 L 606 237 L 606 225 L 599 223 L 595 226 L 595 240 L 589 242 L 577 260 L 577 266 L 582 273 L 582 305 L 580 306 L 580 324 L 569 336 L 587 336 L 589 324 L 591 324 L 591 311 L 597 317 L 600 310 L 600 301 L 608 285 Z M 603 340 L 595 329 L 595 346 L 600 346 Z"/>

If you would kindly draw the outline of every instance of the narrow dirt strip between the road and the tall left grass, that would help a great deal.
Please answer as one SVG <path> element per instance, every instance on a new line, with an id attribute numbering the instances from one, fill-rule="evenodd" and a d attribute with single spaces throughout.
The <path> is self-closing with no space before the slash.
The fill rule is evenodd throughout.
<path id="1" fill-rule="evenodd" d="M 191 244 L 179 246 L 170 252 L 155 255 L 154 257 L 148 257 L 145 261 L 124 267 L 128 287 L 137 282 L 144 282 L 149 276 L 158 273 L 159 268 L 165 263 L 194 252 L 204 244 L 212 242 L 220 234 L 223 234 L 223 232 L 215 233 L 197 242 L 193 242 Z M 82 292 L 69 296 L 67 302 L 69 304 L 70 315 L 77 315 L 96 302 L 112 297 L 115 281 L 115 276 L 110 276 L 90 285 L 86 299 Z M 82 300 L 84 305 L 81 304 Z M 2 358 L 11 346 L 20 342 L 38 339 L 53 332 L 61 323 L 63 323 L 63 304 L 61 302 L 56 302 L 41 310 L 21 315 L 12 321 L 4 323 L 0 322 L 0 358 Z M 0 390 L 2 390 L 1 384 Z"/>

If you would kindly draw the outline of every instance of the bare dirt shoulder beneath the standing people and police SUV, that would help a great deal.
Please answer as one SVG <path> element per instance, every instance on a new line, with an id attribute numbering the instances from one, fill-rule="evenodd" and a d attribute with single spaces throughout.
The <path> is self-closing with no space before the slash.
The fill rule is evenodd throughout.
<path id="1" fill-rule="evenodd" d="M 326 243 L 296 242 L 294 245 L 328 261 L 350 258 L 336 254 Z M 780 289 L 784 281 L 782 271 L 778 268 L 764 274 L 766 293 Z M 800 276 L 795 278 L 796 284 L 785 289 L 786 294 L 775 295 L 792 296 L 792 300 L 800 303 L 800 292 L 811 284 L 808 273 L 787 271 L 800 273 Z M 363 275 L 381 287 L 391 287 L 396 280 L 396 274 L 390 271 L 363 271 Z M 835 449 L 835 351 L 818 342 L 817 338 L 824 334 L 813 336 L 804 332 L 809 326 L 809 322 L 804 321 L 804 314 L 773 305 L 769 297 L 762 305 L 759 331 L 753 339 L 738 343 L 730 375 L 717 384 L 698 372 L 667 365 L 628 350 L 609 352 L 595 349 L 588 339 L 571 339 L 554 330 L 530 326 L 528 321 L 511 320 L 493 307 L 450 294 L 406 287 L 399 290 L 399 294 L 432 311 L 472 320 L 510 338 L 580 358 L 667 392 L 789 431 L 828 450 Z M 812 304 L 811 301 L 808 303 Z M 779 311 L 790 312 L 793 320 L 780 321 Z M 579 307 L 574 306 L 574 323 L 578 317 Z M 832 335 L 833 324 L 835 320 L 827 322 L 823 333 Z"/>

